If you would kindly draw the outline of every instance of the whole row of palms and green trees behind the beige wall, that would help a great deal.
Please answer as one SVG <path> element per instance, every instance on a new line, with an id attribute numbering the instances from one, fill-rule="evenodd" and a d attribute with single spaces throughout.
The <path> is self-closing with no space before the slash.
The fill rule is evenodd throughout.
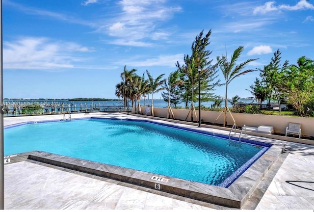
<path id="1" fill-rule="evenodd" d="M 190 55 L 184 55 L 183 64 L 177 62 L 176 70 L 166 78 L 163 78 L 165 74 L 154 78 L 148 70 L 139 76 L 136 69 L 128 70 L 125 66 L 120 74 L 121 82 L 116 84 L 115 95 L 123 98 L 125 106 L 127 106 L 127 100 L 131 100 L 131 106 L 136 108 L 136 112 L 140 110 L 141 97 L 143 96 L 145 100 L 146 97 L 149 99 L 149 95 L 151 95 L 154 115 L 153 95 L 159 91 L 162 91 L 162 97 L 168 102 L 168 108 L 170 105 L 176 106 L 181 102 L 185 104 L 185 107 L 189 103 L 193 107 L 194 101 L 198 101 L 199 98 L 201 102 L 216 100 L 215 88 L 224 85 L 225 125 L 229 84 L 237 77 L 249 72 L 260 71 L 260 78 L 256 78 L 249 91 L 261 104 L 265 100 L 270 101 L 274 98 L 279 104 L 285 100 L 294 106 L 300 116 L 304 115 L 304 110 L 302 110 L 304 106 L 314 105 L 313 60 L 302 56 L 297 60 L 296 65 L 289 65 L 288 61 L 280 65 L 281 52 L 278 50 L 271 58 L 271 62 L 263 69 L 245 69 L 250 62 L 258 58 L 237 63 L 244 50 L 244 47 L 239 46 L 235 49 L 230 61 L 228 61 L 227 55 L 222 55 L 221 57 L 217 56 L 214 63 L 210 57 L 211 51 L 208 50 L 210 34 L 211 30 L 206 34 L 202 30 L 191 45 Z M 224 82 L 218 79 L 219 70 L 224 77 Z M 238 99 L 237 96 L 233 97 L 234 101 Z"/>

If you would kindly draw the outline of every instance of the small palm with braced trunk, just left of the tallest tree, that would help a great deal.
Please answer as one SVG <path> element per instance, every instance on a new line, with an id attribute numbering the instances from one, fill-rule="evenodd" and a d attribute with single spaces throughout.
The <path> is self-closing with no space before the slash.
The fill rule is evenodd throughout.
<path id="1" fill-rule="evenodd" d="M 183 80 L 180 79 L 180 72 L 179 70 L 175 72 L 171 72 L 169 74 L 169 77 L 165 79 L 162 83 L 162 87 L 168 92 L 168 113 L 167 113 L 167 118 L 171 117 L 170 112 L 172 113 L 173 119 L 175 119 L 171 106 L 170 106 L 170 95 L 173 93 L 174 88 L 179 85 L 183 84 Z"/>

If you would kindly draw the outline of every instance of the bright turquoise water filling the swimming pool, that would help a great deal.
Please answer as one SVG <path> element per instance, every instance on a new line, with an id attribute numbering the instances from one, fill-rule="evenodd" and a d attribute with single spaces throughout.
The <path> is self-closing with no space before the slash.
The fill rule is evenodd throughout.
<path id="1" fill-rule="evenodd" d="M 4 131 L 4 155 L 33 150 L 221 185 L 267 147 L 143 121 L 84 119 Z"/>

